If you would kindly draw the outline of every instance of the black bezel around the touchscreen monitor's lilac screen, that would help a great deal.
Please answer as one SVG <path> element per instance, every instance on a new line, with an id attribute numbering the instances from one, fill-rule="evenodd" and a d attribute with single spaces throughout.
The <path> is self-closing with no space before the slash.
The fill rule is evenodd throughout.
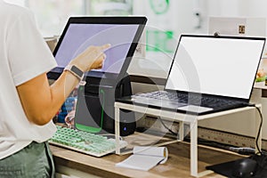
<path id="1" fill-rule="evenodd" d="M 142 31 L 144 29 L 144 26 L 147 22 L 147 18 L 144 16 L 90 16 L 90 17 L 70 17 L 65 28 L 63 29 L 63 32 L 60 36 L 60 39 L 55 46 L 55 49 L 53 51 L 53 56 L 56 56 L 58 53 L 61 43 L 64 39 L 64 36 L 66 35 L 66 32 L 69 29 L 70 24 L 112 24 L 112 25 L 138 25 L 137 31 L 134 35 L 134 40 L 132 44 L 130 45 L 130 48 L 126 54 L 125 61 L 120 69 L 120 72 L 115 73 L 109 73 L 109 72 L 101 72 L 101 71 L 90 71 L 90 73 L 86 76 L 86 81 L 97 81 L 99 80 L 112 80 L 112 83 L 116 83 L 121 78 L 125 76 L 125 72 L 128 69 L 130 62 L 134 56 L 135 48 L 142 36 Z M 61 73 L 63 72 L 64 68 L 57 67 L 55 69 L 52 69 L 48 72 L 47 76 L 49 79 L 57 79 L 61 76 Z M 57 71 L 56 71 L 57 70 Z M 110 82 L 110 81 L 109 81 Z"/>

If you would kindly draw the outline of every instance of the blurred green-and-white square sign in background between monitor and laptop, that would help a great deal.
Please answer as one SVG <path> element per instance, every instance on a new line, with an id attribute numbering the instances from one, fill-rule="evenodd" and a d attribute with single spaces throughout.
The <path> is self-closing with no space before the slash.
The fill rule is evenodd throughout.
<path id="1" fill-rule="evenodd" d="M 174 53 L 173 40 L 174 31 L 147 30 L 146 51 Z"/>

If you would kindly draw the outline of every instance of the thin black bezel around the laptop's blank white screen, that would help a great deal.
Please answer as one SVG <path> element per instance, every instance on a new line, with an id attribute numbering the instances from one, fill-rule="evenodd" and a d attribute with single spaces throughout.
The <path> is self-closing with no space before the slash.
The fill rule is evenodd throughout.
<path id="1" fill-rule="evenodd" d="M 254 37 L 254 36 L 206 36 L 206 35 L 181 35 L 180 36 L 180 39 L 179 39 L 179 43 L 177 44 L 177 47 L 176 47 L 176 50 L 175 50 L 175 53 L 174 53 L 174 59 L 175 59 L 175 56 L 176 56 L 176 53 L 178 51 L 178 48 L 179 48 L 179 45 L 182 41 L 182 37 L 199 37 L 199 38 L 231 38 L 231 39 L 248 39 L 248 40 L 260 40 L 260 41 L 263 41 L 263 49 L 264 49 L 264 45 L 265 45 L 265 41 L 266 41 L 266 38 L 265 37 Z M 261 53 L 261 56 L 263 55 L 263 50 L 262 50 L 262 53 Z M 170 77 L 170 73 L 172 71 L 172 67 L 174 65 L 174 59 L 171 63 L 171 67 L 168 71 L 168 75 L 166 77 L 166 83 Z M 259 62 L 258 62 L 258 65 L 257 65 L 257 68 L 256 69 L 259 69 L 259 66 L 260 66 L 260 61 L 261 59 L 259 59 Z M 256 77 L 256 73 L 255 73 L 255 77 Z M 245 99 L 245 98 L 235 98 L 235 97 L 230 97 L 230 96 L 224 96 L 224 95 L 216 95 L 216 94 L 209 94 L 209 93 L 193 93 L 193 92 L 187 92 L 187 91 L 180 91 L 180 90 L 172 90 L 172 89 L 167 89 L 166 88 L 166 85 L 164 87 L 164 90 L 167 91 L 167 92 L 176 92 L 176 93 L 187 93 L 187 94 L 191 94 L 191 95 L 203 95 L 203 96 L 209 96 L 209 97 L 216 97 L 216 98 L 227 98 L 228 100 L 234 100 L 234 101 L 244 101 L 244 102 L 248 102 L 251 98 L 251 94 L 252 94 L 252 91 L 253 91 L 253 85 L 254 85 L 254 82 L 255 81 L 252 81 L 251 82 L 251 85 L 250 85 L 250 94 L 249 94 L 249 97 L 248 99 Z M 231 87 L 231 86 L 229 86 Z"/>

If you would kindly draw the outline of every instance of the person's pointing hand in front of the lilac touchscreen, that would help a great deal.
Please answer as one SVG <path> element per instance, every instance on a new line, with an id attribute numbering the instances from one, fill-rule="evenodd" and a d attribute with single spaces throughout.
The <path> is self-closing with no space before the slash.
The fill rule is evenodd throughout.
<path id="1" fill-rule="evenodd" d="M 79 69 L 89 71 L 90 69 L 101 69 L 102 63 L 106 59 L 104 53 L 110 47 L 110 44 L 101 46 L 89 46 L 83 53 L 80 53 L 77 58 L 70 61 L 70 64 L 76 65 Z"/>

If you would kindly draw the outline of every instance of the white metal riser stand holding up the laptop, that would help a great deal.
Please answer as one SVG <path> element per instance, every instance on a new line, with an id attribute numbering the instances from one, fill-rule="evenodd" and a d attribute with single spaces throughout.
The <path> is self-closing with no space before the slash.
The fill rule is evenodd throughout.
<path id="1" fill-rule="evenodd" d="M 254 115 L 255 120 L 255 138 L 257 136 L 258 125 L 260 123 L 260 116 L 257 113 L 255 107 L 244 107 L 239 109 L 229 109 L 221 112 L 215 112 L 212 114 L 206 114 L 202 116 L 193 116 L 190 114 L 182 114 L 175 111 L 168 111 L 164 109 L 152 109 L 147 106 L 139 106 L 134 104 L 128 104 L 123 102 L 115 102 L 115 133 L 116 133 L 116 142 L 117 142 L 117 150 L 116 153 L 119 155 L 121 151 L 118 147 L 119 142 L 119 109 L 127 109 L 132 110 L 134 112 L 140 112 L 145 114 L 150 114 L 158 117 L 165 117 L 166 119 L 176 121 L 180 123 L 179 128 L 179 138 L 178 140 L 182 141 L 183 139 L 183 125 L 184 123 L 190 125 L 190 174 L 195 177 L 202 176 L 203 173 L 198 173 L 198 121 L 212 119 L 215 117 L 227 117 L 231 114 L 241 113 L 244 111 L 251 111 Z M 257 106 L 261 109 L 261 105 Z M 261 148 L 262 134 L 259 136 L 258 145 Z M 256 148 L 256 147 L 255 147 Z"/>

